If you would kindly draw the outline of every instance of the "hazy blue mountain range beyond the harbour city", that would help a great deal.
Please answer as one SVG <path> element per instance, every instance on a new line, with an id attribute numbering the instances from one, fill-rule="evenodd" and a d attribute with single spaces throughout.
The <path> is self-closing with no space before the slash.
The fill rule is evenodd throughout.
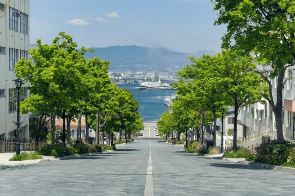
<path id="1" fill-rule="evenodd" d="M 173 69 L 190 64 L 189 55 L 200 57 L 202 54 L 216 54 L 215 51 L 198 51 L 195 54 L 180 53 L 165 48 L 149 48 L 141 46 L 109 46 L 105 48 L 93 47 L 93 52 L 85 53 L 86 58 L 98 56 L 99 59 L 109 60 L 110 69 Z M 145 65 L 145 66 L 144 66 Z"/>

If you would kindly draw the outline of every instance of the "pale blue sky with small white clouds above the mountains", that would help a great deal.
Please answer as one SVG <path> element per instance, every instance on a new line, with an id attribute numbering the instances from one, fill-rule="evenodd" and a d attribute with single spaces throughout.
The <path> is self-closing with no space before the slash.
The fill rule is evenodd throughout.
<path id="1" fill-rule="evenodd" d="M 210 0 L 31 0 L 30 43 L 65 31 L 78 47 L 138 45 L 196 53 L 220 51 Z"/>

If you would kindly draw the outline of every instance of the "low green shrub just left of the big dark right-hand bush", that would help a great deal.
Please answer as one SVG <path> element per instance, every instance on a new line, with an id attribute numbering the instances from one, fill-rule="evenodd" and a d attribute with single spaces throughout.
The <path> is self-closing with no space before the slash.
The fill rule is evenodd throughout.
<path id="1" fill-rule="evenodd" d="M 233 148 L 224 152 L 223 157 L 226 158 L 245 158 L 247 161 L 254 161 L 255 154 L 246 147 L 238 147 L 237 152 L 234 152 Z"/>

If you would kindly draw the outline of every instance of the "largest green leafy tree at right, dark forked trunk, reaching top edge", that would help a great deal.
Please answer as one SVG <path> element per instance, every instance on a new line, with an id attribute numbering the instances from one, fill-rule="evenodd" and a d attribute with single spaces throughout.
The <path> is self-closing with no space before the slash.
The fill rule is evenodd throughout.
<path id="1" fill-rule="evenodd" d="M 223 48 L 253 53 L 263 69 L 251 68 L 268 84 L 261 89 L 263 97 L 272 106 L 276 118 L 279 142 L 284 141 L 282 125 L 283 87 L 285 72 L 294 65 L 294 0 L 211 0 L 219 11 L 215 24 L 227 25 L 222 37 Z M 277 76 L 276 96 L 272 92 L 271 79 Z M 292 77 L 287 77 L 291 79 Z M 276 97 L 276 98 L 274 98 Z"/>

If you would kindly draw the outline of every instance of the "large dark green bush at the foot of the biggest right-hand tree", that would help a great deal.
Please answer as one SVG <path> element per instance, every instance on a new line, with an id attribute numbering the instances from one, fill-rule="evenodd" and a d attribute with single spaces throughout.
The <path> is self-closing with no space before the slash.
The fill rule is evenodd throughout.
<path id="1" fill-rule="evenodd" d="M 282 165 L 287 162 L 289 154 L 294 148 L 294 144 L 271 144 L 263 143 L 256 147 L 255 162 L 271 165 Z M 290 156 L 291 162 L 292 155 Z M 289 163 L 290 164 L 290 163 Z"/>

